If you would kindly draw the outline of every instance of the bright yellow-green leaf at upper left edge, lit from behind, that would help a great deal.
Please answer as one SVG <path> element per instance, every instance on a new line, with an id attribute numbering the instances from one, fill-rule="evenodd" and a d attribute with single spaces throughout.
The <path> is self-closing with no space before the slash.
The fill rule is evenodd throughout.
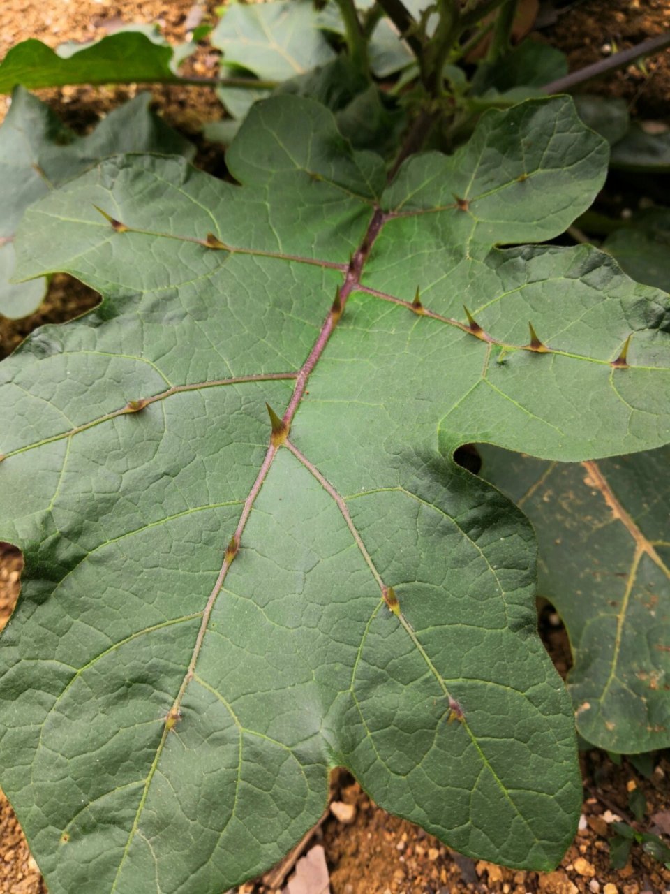
<path id="1" fill-rule="evenodd" d="M 63 84 L 127 84 L 178 80 L 172 72 L 172 47 L 157 44 L 142 31 L 117 31 L 91 46 L 61 57 L 39 40 L 13 46 L 0 63 L 0 93 L 22 87 Z"/>

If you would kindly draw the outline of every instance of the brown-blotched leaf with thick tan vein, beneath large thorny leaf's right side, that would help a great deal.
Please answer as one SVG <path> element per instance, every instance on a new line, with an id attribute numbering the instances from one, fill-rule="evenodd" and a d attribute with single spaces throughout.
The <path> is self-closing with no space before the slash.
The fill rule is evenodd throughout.
<path id="1" fill-rule="evenodd" d="M 577 729 L 623 754 L 670 745 L 669 460 L 667 447 L 574 465 L 484 451 L 482 474 L 538 536 L 540 594 L 573 650 Z"/>

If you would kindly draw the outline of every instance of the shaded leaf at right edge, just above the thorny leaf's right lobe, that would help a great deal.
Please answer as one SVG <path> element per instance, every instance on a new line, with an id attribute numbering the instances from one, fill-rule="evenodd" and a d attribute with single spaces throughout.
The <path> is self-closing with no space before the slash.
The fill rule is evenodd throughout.
<path id="1" fill-rule="evenodd" d="M 649 208 L 607 236 L 602 248 L 639 283 L 670 291 L 670 209 Z"/>

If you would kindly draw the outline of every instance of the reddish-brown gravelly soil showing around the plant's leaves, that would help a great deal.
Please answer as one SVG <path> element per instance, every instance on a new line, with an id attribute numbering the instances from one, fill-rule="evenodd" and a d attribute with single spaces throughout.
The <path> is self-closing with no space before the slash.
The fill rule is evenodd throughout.
<path id="1" fill-rule="evenodd" d="M 553 21 L 544 36 L 568 55 L 571 70 L 597 61 L 613 47 L 632 46 L 670 28 L 666 0 L 582 0 L 553 6 L 556 14 L 549 9 L 549 20 Z M 191 8 L 190 0 L 80 0 L 77 4 L 74 0 L 47 0 L 28 5 L 25 0 L 4 0 L 0 9 L 0 58 L 25 38 L 40 38 L 50 46 L 65 40 L 90 40 L 103 37 L 119 21 L 160 21 L 166 36 L 180 41 L 185 39 Z M 204 21 L 214 21 L 214 3 L 210 0 L 203 8 Z M 644 70 L 629 66 L 605 83 L 591 83 L 589 90 L 624 97 L 636 114 L 667 117 L 668 56 L 670 53 L 649 60 Z M 211 75 L 216 58 L 204 48 L 192 64 L 197 74 Z M 133 96 L 136 90 L 134 86 L 66 87 L 38 91 L 38 95 L 54 105 L 71 127 L 86 131 L 99 114 Z M 222 170 L 218 150 L 198 136 L 201 122 L 222 116 L 212 91 L 154 87 L 152 93 L 165 118 L 197 143 L 197 164 L 213 173 Z M 0 97 L 0 117 L 6 107 L 4 97 Z M 20 321 L 0 318 L 0 358 L 37 325 L 71 319 L 92 307 L 97 299 L 95 292 L 70 277 L 54 276 L 46 302 L 37 314 Z M 9 619 L 19 593 L 21 564 L 20 552 L 0 544 L 0 628 Z M 570 666 L 569 646 L 550 606 L 540 613 L 540 633 L 559 672 L 565 675 Z M 602 752 L 588 751 L 582 754 L 582 776 L 585 800 L 580 828 L 555 873 L 516 872 L 459 856 L 417 827 L 378 808 L 345 772 L 337 774 L 333 783 L 334 797 L 355 808 L 353 822 L 345 824 L 331 815 L 313 840 L 321 840 L 325 848 L 333 894 L 670 894 L 669 870 L 637 846 L 628 864 L 613 870 L 607 843 L 615 818 L 634 825 L 628 803 L 635 789 L 641 790 L 646 802 L 641 828 L 649 829 L 649 818 L 654 817 L 658 823 L 668 823 L 666 831 L 670 831 L 670 814 L 663 820 L 670 809 L 668 756 L 655 755 L 653 772 L 647 778 L 625 758 L 616 764 Z M 270 882 L 266 875 L 241 886 L 239 894 L 269 894 L 274 890 Z M 46 887 L 38 865 L 29 854 L 11 806 L 0 792 L 0 894 L 43 892 Z"/>

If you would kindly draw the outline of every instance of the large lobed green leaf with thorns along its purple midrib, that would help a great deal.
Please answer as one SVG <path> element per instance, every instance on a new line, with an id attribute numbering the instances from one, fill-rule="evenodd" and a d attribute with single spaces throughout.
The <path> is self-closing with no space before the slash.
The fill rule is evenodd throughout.
<path id="1" fill-rule="evenodd" d="M 105 296 L 0 365 L 26 560 L 0 766 L 49 890 L 219 894 L 337 765 L 466 854 L 550 868 L 582 787 L 532 530 L 452 453 L 670 439 L 666 298 L 594 249 L 493 248 L 562 232 L 607 148 L 531 102 L 385 189 L 321 105 L 274 97 L 227 160 L 241 187 L 110 159 L 17 240 L 22 274 Z"/>

